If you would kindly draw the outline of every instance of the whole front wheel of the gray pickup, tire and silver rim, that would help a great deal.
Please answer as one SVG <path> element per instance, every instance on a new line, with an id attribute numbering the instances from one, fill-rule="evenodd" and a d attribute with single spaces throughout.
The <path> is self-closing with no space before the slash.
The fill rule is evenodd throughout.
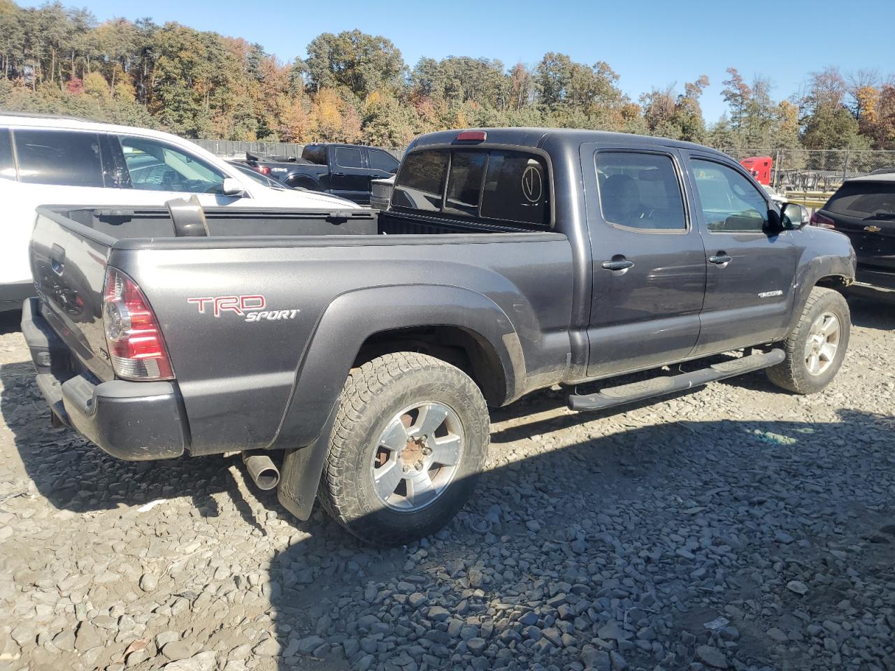
<path id="1" fill-rule="evenodd" d="M 814 394 L 829 385 L 842 365 L 851 334 L 851 315 L 841 293 L 815 286 L 798 324 L 784 341 L 786 359 L 767 369 L 775 385 Z"/>

